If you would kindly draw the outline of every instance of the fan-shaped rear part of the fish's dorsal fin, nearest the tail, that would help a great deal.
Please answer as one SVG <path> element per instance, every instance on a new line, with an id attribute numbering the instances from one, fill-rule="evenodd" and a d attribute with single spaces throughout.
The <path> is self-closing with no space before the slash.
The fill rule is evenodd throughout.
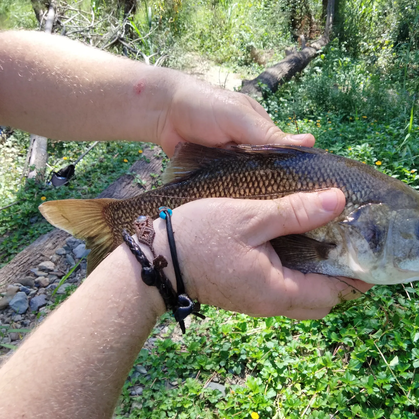
<path id="1" fill-rule="evenodd" d="M 237 153 L 223 148 L 205 147 L 191 142 L 179 142 L 175 153 L 163 173 L 163 183 L 169 184 L 185 180 L 195 171 L 215 160 L 237 157 Z"/>

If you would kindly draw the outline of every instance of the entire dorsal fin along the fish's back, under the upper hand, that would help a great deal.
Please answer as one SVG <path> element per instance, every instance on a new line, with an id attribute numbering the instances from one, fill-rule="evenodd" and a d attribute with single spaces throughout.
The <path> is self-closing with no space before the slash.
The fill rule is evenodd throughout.
<path id="1" fill-rule="evenodd" d="M 266 154 L 284 158 L 299 153 L 324 154 L 327 153 L 319 148 L 302 147 L 298 145 L 236 145 L 231 150 L 223 148 L 205 147 L 204 145 L 191 142 L 180 142 L 175 147 L 175 153 L 171 158 L 165 173 L 163 183 L 169 184 L 186 180 L 192 173 L 202 169 L 215 160 L 225 158 L 250 158 L 255 154 Z"/>

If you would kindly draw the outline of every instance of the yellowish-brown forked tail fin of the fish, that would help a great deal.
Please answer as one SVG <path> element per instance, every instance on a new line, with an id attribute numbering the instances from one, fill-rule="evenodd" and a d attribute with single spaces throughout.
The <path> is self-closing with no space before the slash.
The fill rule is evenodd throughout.
<path id="1" fill-rule="evenodd" d="M 39 205 L 39 211 L 55 227 L 86 241 L 91 249 L 87 257 L 87 273 L 118 246 L 112 226 L 107 222 L 106 208 L 117 199 L 63 199 Z"/>

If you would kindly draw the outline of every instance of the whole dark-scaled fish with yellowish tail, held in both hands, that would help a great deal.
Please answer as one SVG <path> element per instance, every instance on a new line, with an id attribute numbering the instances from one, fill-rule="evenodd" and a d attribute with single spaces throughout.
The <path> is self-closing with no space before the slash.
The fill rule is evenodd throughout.
<path id="1" fill-rule="evenodd" d="M 129 199 L 65 199 L 39 206 L 54 226 L 86 241 L 88 273 L 134 233 L 139 215 L 158 217 L 195 199 L 276 199 L 339 188 L 343 212 L 305 234 L 271 240 L 282 265 L 303 273 L 398 284 L 419 279 L 419 192 L 367 164 L 318 148 L 179 143 L 164 185 Z"/>

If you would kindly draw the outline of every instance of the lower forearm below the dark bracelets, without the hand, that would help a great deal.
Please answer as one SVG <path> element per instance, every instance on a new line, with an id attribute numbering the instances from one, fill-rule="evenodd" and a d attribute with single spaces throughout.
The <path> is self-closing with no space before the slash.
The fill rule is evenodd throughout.
<path id="1" fill-rule="evenodd" d="M 140 269 L 120 246 L 42 322 L 0 369 L 1 417 L 111 417 L 135 357 L 165 310 Z"/>

